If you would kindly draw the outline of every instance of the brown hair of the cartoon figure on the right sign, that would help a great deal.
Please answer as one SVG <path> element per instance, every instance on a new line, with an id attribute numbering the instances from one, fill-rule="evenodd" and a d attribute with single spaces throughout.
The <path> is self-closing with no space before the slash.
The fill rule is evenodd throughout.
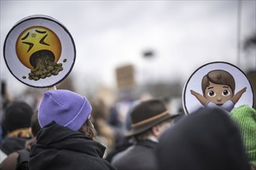
<path id="1" fill-rule="evenodd" d="M 209 82 L 227 85 L 231 88 L 232 93 L 234 93 L 236 87 L 234 77 L 224 70 L 212 70 L 202 77 L 202 93 L 205 93 L 206 87 L 209 86 Z"/>

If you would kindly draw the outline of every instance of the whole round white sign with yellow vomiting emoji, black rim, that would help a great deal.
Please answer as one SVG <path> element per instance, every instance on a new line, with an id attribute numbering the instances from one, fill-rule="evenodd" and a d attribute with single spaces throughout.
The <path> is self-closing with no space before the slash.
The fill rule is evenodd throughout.
<path id="1" fill-rule="evenodd" d="M 22 83 L 51 87 L 64 80 L 74 66 L 74 40 L 56 19 L 33 15 L 11 29 L 4 57 L 12 75 Z"/>

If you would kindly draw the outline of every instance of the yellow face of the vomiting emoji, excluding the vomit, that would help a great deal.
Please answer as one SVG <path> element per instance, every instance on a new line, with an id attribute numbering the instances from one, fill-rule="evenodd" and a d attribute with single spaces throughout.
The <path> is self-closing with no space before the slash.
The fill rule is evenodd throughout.
<path id="1" fill-rule="evenodd" d="M 29 69 L 38 65 L 38 58 L 47 58 L 57 63 L 61 56 L 61 41 L 50 29 L 33 26 L 25 29 L 16 41 L 19 61 Z"/>

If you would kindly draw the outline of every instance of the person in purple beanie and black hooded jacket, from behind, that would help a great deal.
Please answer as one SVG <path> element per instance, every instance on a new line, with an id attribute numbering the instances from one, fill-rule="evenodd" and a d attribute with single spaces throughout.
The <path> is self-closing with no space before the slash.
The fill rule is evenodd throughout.
<path id="1" fill-rule="evenodd" d="M 29 169 L 116 169 L 93 138 L 92 106 L 70 90 L 48 90 L 38 110 L 41 130 L 31 146 Z"/>

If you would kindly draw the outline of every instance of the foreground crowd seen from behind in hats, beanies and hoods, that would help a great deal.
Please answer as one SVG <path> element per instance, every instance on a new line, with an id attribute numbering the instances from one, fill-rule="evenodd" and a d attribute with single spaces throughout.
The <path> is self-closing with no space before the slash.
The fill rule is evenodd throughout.
<path id="1" fill-rule="evenodd" d="M 133 102 L 124 121 L 100 98 L 46 90 L 38 108 L 2 104 L 0 170 L 256 170 L 256 110 L 171 113 L 159 97 Z"/>

